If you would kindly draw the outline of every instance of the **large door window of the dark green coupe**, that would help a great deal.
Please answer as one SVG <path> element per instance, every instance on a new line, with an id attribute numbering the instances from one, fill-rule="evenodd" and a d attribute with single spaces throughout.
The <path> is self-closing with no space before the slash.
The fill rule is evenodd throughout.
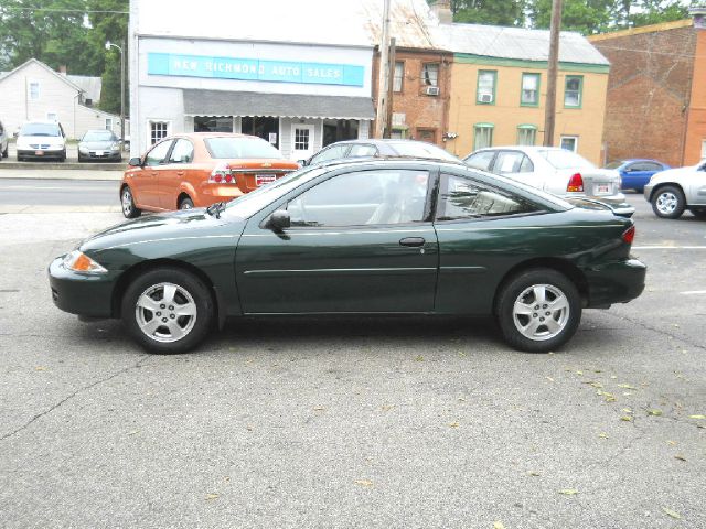
<path id="1" fill-rule="evenodd" d="M 424 219 L 429 173 L 413 170 L 339 174 L 289 201 L 292 227 L 364 226 Z"/>

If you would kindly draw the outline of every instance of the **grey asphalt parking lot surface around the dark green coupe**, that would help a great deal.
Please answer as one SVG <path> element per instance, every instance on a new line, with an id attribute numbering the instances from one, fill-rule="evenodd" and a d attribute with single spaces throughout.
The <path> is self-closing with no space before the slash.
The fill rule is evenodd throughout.
<path id="1" fill-rule="evenodd" d="M 147 355 L 46 280 L 120 214 L 6 209 L 0 527 L 706 527 L 706 223 L 629 198 L 645 292 L 547 355 L 466 319 L 232 321 Z"/>

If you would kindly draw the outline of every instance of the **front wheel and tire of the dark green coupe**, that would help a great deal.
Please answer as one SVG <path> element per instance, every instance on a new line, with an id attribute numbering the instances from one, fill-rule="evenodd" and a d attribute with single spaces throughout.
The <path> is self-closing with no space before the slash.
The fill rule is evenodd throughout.
<path id="1" fill-rule="evenodd" d="M 186 353 L 199 345 L 212 328 L 215 313 L 208 287 L 179 268 L 139 274 L 122 296 L 121 311 L 132 337 L 150 353 L 161 355 Z"/>

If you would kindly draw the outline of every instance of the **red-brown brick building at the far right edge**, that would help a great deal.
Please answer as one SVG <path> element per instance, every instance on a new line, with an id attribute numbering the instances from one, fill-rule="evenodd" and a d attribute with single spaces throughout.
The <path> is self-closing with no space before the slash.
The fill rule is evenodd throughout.
<path id="1" fill-rule="evenodd" d="M 606 159 L 680 166 L 705 158 L 706 29 L 682 20 L 589 40 L 611 63 Z"/>

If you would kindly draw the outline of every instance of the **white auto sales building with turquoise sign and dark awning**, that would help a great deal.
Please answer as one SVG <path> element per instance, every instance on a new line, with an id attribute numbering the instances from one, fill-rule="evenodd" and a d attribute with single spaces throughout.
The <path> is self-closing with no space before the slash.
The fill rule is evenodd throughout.
<path id="1" fill-rule="evenodd" d="M 239 2 L 202 0 L 197 10 L 170 2 L 170 12 L 189 13 L 181 17 L 165 17 L 161 2 L 132 0 L 130 154 L 194 131 L 259 136 L 292 160 L 367 138 L 373 46 L 363 24 L 351 23 L 360 13 L 312 2 L 313 20 L 312 11 L 279 0 L 239 11 Z"/>

